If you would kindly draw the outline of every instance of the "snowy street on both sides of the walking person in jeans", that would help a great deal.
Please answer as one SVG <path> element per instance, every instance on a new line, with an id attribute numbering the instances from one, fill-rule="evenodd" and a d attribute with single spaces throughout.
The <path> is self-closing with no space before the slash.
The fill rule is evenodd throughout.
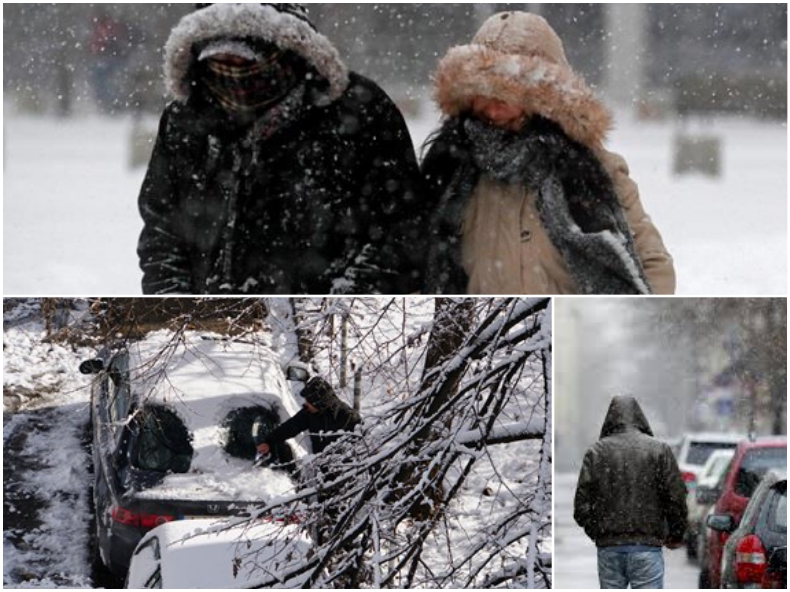
<path id="1" fill-rule="evenodd" d="M 573 521 L 576 475 L 558 474 L 554 480 L 554 587 L 560 590 L 598 588 L 595 545 Z M 684 549 L 664 550 L 666 588 L 697 587 L 698 570 L 686 560 Z"/>

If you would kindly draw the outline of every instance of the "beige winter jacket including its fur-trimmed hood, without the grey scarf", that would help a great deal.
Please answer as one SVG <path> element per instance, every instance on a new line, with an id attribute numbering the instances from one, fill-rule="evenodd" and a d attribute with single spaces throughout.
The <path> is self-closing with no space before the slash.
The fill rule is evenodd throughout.
<path id="1" fill-rule="evenodd" d="M 468 112 L 475 97 L 520 105 L 527 116 L 557 123 L 589 147 L 613 180 L 655 294 L 673 294 L 675 270 L 645 213 L 628 165 L 603 146 L 612 126 L 606 107 L 569 65 L 562 40 L 540 16 L 491 17 L 470 45 L 452 48 L 435 75 L 436 100 L 447 117 Z M 576 287 L 543 229 L 535 197 L 523 187 L 485 177 L 465 212 L 462 261 L 470 294 L 574 294 Z"/>

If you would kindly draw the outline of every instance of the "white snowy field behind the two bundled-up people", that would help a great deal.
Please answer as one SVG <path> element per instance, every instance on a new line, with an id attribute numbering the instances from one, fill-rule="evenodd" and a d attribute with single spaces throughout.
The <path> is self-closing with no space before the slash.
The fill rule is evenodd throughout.
<path id="1" fill-rule="evenodd" d="M 437 124 L 410 121 L 416 145 Z M 687 126 L 688 127 L 688 126 Z M 721 138 L 721 178 L 672 174 L 677 123 L 618 118 L 609 145 L 624 154 L 644 205 L 675 257 L 679 294 L 787 294 L 787 127 L 709 120 Z M 4 118 L 4 280 L 10 295 L 135 295 L 141 275 L 137 193 L 122 119 Z"/>

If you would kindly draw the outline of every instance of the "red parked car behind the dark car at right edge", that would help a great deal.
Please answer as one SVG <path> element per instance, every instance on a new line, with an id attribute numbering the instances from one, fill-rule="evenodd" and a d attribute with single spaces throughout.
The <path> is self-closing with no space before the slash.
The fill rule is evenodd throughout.
<path id="1" fill-rule="evenodd" d="M 738 444 L 712 514 L 729 515 L 732 529 L 737 528 L 749 499 L 771 469 L 787 470 L 787 438 L 758 438 Z M 708 518 L 708 526 L 712 526 L 712 519 Z M 728 538 L 728 532 L 709 528 L 707 553 L 700 557 L 700 588 L 721 587 L 722 554 Z"/>

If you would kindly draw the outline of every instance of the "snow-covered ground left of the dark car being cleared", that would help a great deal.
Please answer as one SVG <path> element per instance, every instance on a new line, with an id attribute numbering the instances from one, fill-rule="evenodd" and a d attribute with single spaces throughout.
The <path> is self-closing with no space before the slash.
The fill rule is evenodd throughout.
<path id="1" fill-rule="evenodd" d="M 91 351 L 3 324 L 3 585 L 91 587 L 88 382 L 75 370 Z"/>

